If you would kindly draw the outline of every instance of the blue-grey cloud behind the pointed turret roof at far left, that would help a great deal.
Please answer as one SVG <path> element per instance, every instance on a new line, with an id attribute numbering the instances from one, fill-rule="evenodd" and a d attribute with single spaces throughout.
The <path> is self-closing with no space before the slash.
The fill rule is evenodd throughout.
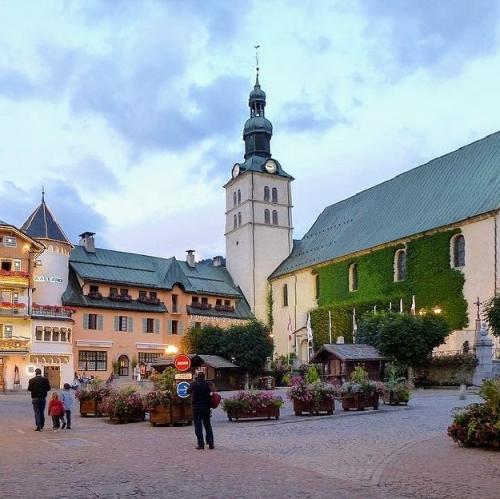
<path id="1" fill-rule="evenodd" d="M 13 182 L 0 182 L 0 219 L 21 227 L 29 215 L 40 204 L 40 190 L 24 190 Z M 45 183 L 45 201 L 55 219 L 71 242 L 78 242 L 78 235 L 89 230 L 103 233 L 107 223 L 92 205 L 85 203 L 76 189 L 62 181 Z M 100 238 L 102 246 L 103 238 Z M 104 239 L 104 244 L 108 245 Z"/>

